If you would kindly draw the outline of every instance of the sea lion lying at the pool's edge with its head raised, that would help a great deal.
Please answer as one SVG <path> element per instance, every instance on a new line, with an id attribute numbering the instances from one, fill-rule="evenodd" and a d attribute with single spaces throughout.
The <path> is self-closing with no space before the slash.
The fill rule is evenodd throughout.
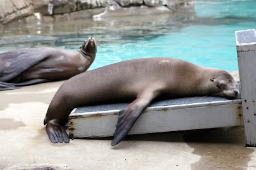
<path id="1" fill-rule="evenodd" d="M 97 52 L 94 38 L 77 51 L 51 47 L 24 48 L 0 54 L 0 90 L 67 80 L 91 66 Z"/>

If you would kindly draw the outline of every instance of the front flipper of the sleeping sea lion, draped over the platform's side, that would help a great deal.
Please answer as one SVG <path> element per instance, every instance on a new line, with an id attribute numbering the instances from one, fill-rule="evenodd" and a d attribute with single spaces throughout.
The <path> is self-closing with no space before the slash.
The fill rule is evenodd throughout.
<path id="1" fill-rule="evenodd" d="M 145 110 L 148 104 L 158 95 L 159 89 L 146 89 L 138 95 L 135 101 L 119 112 L 114 139 L 111 142 L 112 146 L 120 143 L 120 141 L 125 138 L 131 130 L 132 125 L 134 125 L 136 120 L 140 117 L 142 111 Z"/>

